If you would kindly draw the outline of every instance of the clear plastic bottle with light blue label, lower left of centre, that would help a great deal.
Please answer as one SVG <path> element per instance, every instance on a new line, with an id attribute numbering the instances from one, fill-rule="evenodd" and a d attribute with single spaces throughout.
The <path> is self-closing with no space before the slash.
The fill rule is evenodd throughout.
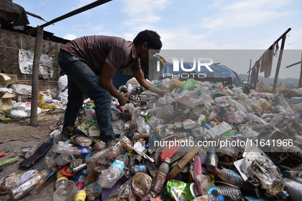
<path id="1" fill-rule="evenodd" d="M 99 184 L 103 188 L 111 188 L 120 178 L 124 167 L 128 164 L 128 156 L 120 155 L 111 166 L 102 172 L 99 179 Z"/>

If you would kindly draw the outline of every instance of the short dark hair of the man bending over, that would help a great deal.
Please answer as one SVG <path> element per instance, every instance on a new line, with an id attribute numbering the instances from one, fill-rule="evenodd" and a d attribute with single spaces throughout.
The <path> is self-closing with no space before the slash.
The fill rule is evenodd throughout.
<path id="1" fill-rule="evenodd" d="M 135 46 L 143 44 L 144 42 L 148 43 L 148 48 L 160 49 L 162 47 L 160 36 L 151 30 L 141 31 L 133 40 Z"/>

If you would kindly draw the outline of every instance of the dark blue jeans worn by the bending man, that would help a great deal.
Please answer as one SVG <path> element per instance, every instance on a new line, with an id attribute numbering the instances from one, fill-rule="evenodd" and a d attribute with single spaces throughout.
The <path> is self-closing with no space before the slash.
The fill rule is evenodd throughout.
<path id="1" fill-rule="evenodd" d="M 111 96 L 99 85 L 99 78 L 86 62 L 64 52 L 58 57 L 60 68 L 68 77 L 68 103 L 64 117 L 64 127 L 74 125 L 79 110 L 82 109 L 85 94 L 95 102 L 100 139 L 104 142 L 114 140 L 111 124 Z"/>

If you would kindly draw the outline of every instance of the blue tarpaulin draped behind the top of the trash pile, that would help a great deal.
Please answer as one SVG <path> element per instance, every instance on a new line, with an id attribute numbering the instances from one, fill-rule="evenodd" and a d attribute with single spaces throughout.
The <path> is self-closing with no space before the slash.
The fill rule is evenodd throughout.
<path id="1" fill-rule="evenodd" d="M 163 76 L 164 73 L 170 73 L 170 74 L 180 74 L 180 73 L 203 73 L 206 75 L 206 78 L 231 78 L 232 79 L 232 84 L 235 85 L 241 85 L 241 80 L 237 74 L 237 72 L 235 72 L 234 70 L 229 69 L 228 67 L 224 66 L 224 65 L 215 65 L 212 64 L 209 67 L 213 70 L 210 71 L 208 70 L 205 66 L 201 66 L 200 67 L 200 71 L 197 71 L 197 63 L 196 63 L 196 68 L 194 71 L 184 71 L 181 69 L 180 64 L 179 64 L 179 71 L 173 71 L 173 63 L 168 63 L 168 66 L 165 65 L 162 70 L 160 75 Z M 193 62 L 183 62 L 183 68 L 185 69 L 192 69 L 193 68 Z"/>

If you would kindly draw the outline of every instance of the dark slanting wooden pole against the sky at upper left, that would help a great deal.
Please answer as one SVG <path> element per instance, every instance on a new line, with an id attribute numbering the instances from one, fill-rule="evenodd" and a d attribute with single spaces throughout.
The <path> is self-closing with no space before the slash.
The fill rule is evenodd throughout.
<path id="1" fill-rule="evenodd" d="M 74 15 L 76 15 L 76 14 L 79 14 L 79 13 L 84 12 L 84 11 L 86 11 L 86 10 L 89 10 L 89 9 L 91 9 L 91 8 L 95 8 L 95 7 L 97 7 L 97 6 L 100 6 L 100 5 L 105 4 L 105 3 L 107 3 L 107 2 L 110 2 L 110 1 L 112 1 L 112 0 L 98 0 L 98 1 L 92 2 L 91 4 L 88 4 L 88 5 L 86 5 L 86 6 L 83 6 L 83 7 L 79 8 L 79 9 L 77 9 L 77 10 L 74 10 L 74 11 L 72 11 L 72 12 L 69 12 L 69 13 L 65 14 L 65 15 L 62 15 L 62 16 L 60 16 L 60 17 L 57 17 L 57 18 L 55 18 L 55 19 L 53 19 L 53 20 L 51 20 L 51 21 L 49 21 L 49 22 L 47 22 L 47 23 L 44 23 L 44 24 L 42 24 L 40 27 L 42 27 L 42 28 L 43 28 L 43 27 L 47 27 L 47 26 L 49 26 L 50 24 L 53 24 L 53 23 L 55 23 L 55 22 L 61 21 L 61 20 L 63 20 L 63 19 L 66 19 L 66 18 L 68 18 L 68 17 L 74 16 Z M 32 29 L 28 30 L 27 32 L 33 32 L 33 31 L 35 31 L 36 29 L 37 29 L 37 28 L 32 28 Z"/>

